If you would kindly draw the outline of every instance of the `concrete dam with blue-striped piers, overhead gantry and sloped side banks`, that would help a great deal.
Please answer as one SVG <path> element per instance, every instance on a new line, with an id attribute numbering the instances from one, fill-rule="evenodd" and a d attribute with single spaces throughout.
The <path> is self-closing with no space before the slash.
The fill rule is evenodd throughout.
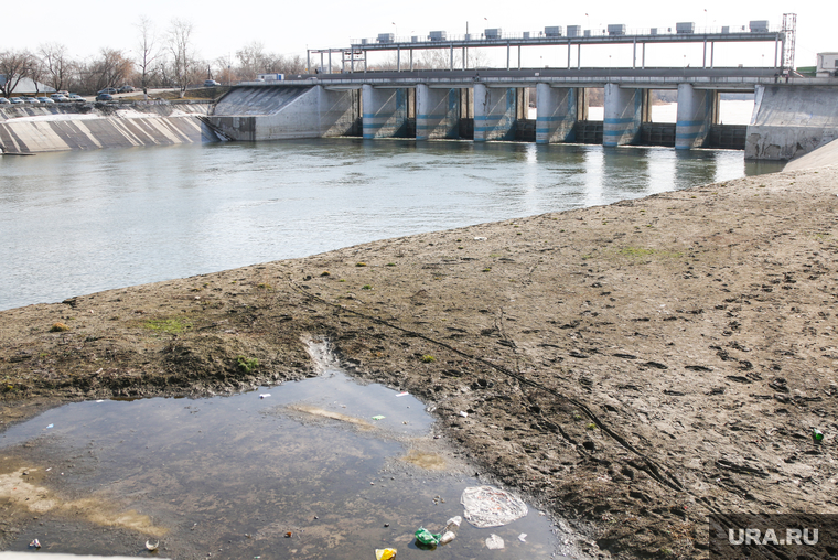
<path id="1" fill-rule="evenodd" d="M 784 18 L 783 28 L 773 31 L 767 22 L 751 22 L 750 31 L 743 26 L 733 32 L 694 33 L 691 24 L 684 25 L 678 23 L 676 33 L 641 34 L 609 25 L 602 34 L 590 35 L 579 30 L 571 34 L 571 28 L 563 35 L 561 28 L 548 26 L 538 36 L 520 37 L 485 30 L 480 39 L 431 32 L 428 41 L 409 42 L 384 34 L 336 50 L 342 55 L 337 68 L 332 64 L 335 50 L 310 51 L 309 61 L 312 53 L 321 55 L 315 73 L 240 82 L 208 104 L 97 103 L 77 109 L 40 108 L 39 115 L 32 114 L 35 108 L 0 109 L 0 149 L 11 154 L 350 136 L 721 148 L 744 150 L 751 160 L 791 160 L 838 138 L 838 78 L 793 71 L 794 18 Z M 700 66 L 647 67 L 646 44 L 687 42 L 703 43 Z M 773 42 L 774 65 L 718 67 L 716 45 L 726 42 Z M 581 50 L 588 44 L 632 45 L 631 67 L 582 67 Z M 520 51 L 531 46 L 566 49 L 567 66 L 522 67 Z M 506 68 L 468 67 L 469 49 L 490 47 L 506 49 Z M 512 64 L 513 47 L 518 50 L 517 67 Z M 448 52 L 449 67 L 415 67 L 413 51 L 422 49 Z M 454 67 L 455 50 L 463 52 L 461 68 Z M 395 71 L 369 69 L 367 54 L 374 51 L 395 51 Z M 404 65 L 402 53 L 409 61 Z M 589 119 L 595 89 L 603 93 L 602 120 Z M 675 122 L 652 121 L 653 90 L 677 93 Z M 749 125 L 720 121 L 724 94 L 754 96 Z M 528 118 L 530 108 L 535 119 Z"/>

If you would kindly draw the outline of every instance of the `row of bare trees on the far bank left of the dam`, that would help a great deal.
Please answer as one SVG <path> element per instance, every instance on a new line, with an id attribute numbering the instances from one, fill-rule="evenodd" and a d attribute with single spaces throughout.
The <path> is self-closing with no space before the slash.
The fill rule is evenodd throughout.
<path id="1" fill-rule="evenodd" d="M 255 79 L 257 74 L 299 74 L 307 71 L 301 56 L 269 53 L 259 42 L 239 51 L 235 58 L 202 60 L 193 42 L 194 25 L 185 20 L 172 20 L 164 33 L 158 33 L 148 18 L 137 24 L 138 37 L 133 55 L 116 49 L 103 47 L 87 60 L 74 58 L 60 43 L 42 44 L 36 52 L 25 50 L 0 51 L 0 96 L 9 97 L 21 91 L 26 78 L 35 89 L 49 86 L 55 90 L 93 94 L 105 87 L 123 84 L 143 90 L 152 87 L 178 88 L 181 96 L 186 87 L 203 84 L 205 79 L 222 83 Z M 41 93 L 29 91 L 25 93 Z"/>

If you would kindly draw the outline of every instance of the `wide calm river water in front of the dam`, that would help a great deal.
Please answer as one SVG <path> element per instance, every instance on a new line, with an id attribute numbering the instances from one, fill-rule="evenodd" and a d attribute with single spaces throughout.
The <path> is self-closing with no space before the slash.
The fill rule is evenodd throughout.
<path id="1" fill-rule="evenodd" d="M 776 171 L 740 151 L 351 138 L 0 158 L 0 310 Z"/>

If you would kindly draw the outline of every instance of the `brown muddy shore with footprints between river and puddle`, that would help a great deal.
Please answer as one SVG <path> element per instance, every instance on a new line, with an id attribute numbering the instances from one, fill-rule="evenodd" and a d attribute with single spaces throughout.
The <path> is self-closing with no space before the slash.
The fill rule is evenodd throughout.
<path id="1" fill-rule="evenodd" d="M 299 378 L 323 335 L 591 556 L 706 557 L 710 513 L 838 513 L 837 194 L 777 173 L 0 312 L 0 430 Z"/>

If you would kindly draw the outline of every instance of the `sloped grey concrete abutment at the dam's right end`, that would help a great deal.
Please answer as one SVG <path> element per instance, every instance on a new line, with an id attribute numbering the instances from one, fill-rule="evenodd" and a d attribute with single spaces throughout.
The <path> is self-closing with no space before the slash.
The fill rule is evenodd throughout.
<path id="1" fill-rule="evenodd" d="M 791 160 L 838 138 L 838 88 L 758 86 L 745 159 Z"/>

